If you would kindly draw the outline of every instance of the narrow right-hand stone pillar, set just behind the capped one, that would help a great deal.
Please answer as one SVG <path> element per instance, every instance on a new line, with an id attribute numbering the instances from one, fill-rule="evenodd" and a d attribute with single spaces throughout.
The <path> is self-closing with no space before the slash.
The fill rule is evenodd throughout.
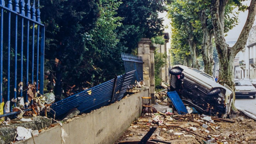
<path id="1" fill-rule="evenodd" d="M 150 69 L 149 69 L 149 77 L 150 77 L 150 91 L 149 95 L 151 97 L 151 103 L 155 104 L 156 102 L 156 97 L 155 97 L 155 56 L 154 56 L 154 51 L 156 47 L 153 45 L 150 45 Z"/>

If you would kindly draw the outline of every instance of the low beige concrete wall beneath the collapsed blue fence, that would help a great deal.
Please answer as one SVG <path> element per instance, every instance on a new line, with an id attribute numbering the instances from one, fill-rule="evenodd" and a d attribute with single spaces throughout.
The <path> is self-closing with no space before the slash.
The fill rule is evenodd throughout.
<path id="1" fill-rule="evenodd" d="M 63 127 L 68 134 L 66 144 L 113 144 L 135 117 L 140 116 L 141 97 L 148 95 L 149 89 L 64 123 Z M 34 140 L 36 144 L 61 144 L 61 127 L 46 130 L 34 137 Z M 33 138 L 18 143 L 34 144 Z"/>

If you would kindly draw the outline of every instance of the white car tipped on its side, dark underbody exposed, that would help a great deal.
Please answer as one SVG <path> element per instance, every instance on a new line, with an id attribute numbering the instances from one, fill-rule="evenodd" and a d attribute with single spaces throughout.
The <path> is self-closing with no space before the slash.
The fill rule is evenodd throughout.
<path id="1" fill-rule="evenodd" d="M 184 65 L 170 70 L 168 91 L 176 91 L 183 102 L 207 115 L 226 118 L 230 114 L 234 93 L 227 85 L 215 82 L 207 73 Z"/>

